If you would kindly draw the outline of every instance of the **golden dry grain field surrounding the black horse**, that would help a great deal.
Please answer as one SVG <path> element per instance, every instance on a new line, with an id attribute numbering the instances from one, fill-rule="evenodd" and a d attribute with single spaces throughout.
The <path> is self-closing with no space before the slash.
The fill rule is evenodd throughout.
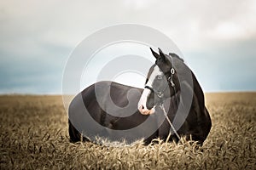
<path id="1" fill-rule="evenodd" d="M 212 130 L 195 149 L 71 144 L 61 96 L 0 96 L 0 169 L 256 169 L 256 93 L 206 98 Z"/>

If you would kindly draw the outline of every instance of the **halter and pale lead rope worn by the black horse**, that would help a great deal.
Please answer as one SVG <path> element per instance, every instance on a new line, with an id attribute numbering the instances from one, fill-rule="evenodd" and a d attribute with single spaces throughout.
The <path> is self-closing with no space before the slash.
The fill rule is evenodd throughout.
<path id="1" fill-rule="evenodd" d="M 171 57 L 171 59 L 172 59 L 172 57 Z M 175 87 L 175 83 L 173 82 L 173 76 L 175 74 L 175 70 L 174 70 L 173 67 L 171 68 L 170 72 L 171 72 L 171 75 L 170 75 L 170 77 L 168 77 L 167 80 L 168 80 L 168 82 L 171 83 L 171 86 L 172 86 L 172 88 L 174 90 L 174 95 L 175 95 L 176 94 L 176 87 Z M 168 87 L 168 84 L 166 85 L 166 88 L 167 87 Z M 164 92 L 166 91 L 166 88 L 163 91 L 157 91 L 154 88 L 151 88 L 149 86 L 145 86 L 145 88 L 148 88 L 151 92 L 153 92 L 154 94 L 156 94 L 160 98 L 160 109 L 164 112 L 164 115 L 166 116 L 166 120 L 170 124 L 170 131 L 169 131 L 169 134 L 167 136 L 166 142 L 168 142 L 168 140 L 171 137 L 171 134 L 172 134 L 171 128 L 172 128 L 172 131 L 176 134 L 177 139 L 179 139 L 181 141 L 181 138 L 178 135 L 177 130 L 175 129 L 175 127 L 173 127 L 172 122 L 170 121 L 169 117 L 167 116 L 166 109 L 164 107 L 163 97 L 164 97 Z M 177 99 L 176 99 L 176 103 L 177 103 Z"/>

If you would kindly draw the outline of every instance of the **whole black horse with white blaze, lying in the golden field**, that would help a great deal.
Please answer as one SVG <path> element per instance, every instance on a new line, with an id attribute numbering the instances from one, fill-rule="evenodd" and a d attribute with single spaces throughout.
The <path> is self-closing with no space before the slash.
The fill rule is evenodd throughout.
<path id="1" fill-rule="evenodd" d="M 96 82 L 73 99 L 68 111 L 71 142 L 101 137 L 149 144 L 185 136 L 203 144 L 212 122 L 194 73 L 176 54 L 150 49 L 156 60 L 144 89 Z"/>

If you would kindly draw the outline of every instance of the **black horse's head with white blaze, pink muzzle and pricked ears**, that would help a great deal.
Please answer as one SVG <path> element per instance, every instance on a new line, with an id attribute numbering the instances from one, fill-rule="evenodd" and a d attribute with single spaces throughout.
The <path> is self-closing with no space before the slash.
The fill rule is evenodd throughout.
<path id="1" fill-rule="evenodd" d="M 177 71 L 173 57 L 176 54 L 164 54 L 159 48 L 159 54 L 150 48 L 154 55 L 155 64 L 148 71 L 143 94 L 138 102 L 138 110 L 143 115 L 153 114 L 155 107 L 172 97 L 180 90 Z"/>

